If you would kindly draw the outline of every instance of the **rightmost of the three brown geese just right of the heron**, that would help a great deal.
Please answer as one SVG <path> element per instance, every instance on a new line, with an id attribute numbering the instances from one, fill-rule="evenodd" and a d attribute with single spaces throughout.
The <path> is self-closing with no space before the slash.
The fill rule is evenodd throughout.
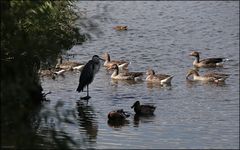
<path id="1" fill-rule="evenodd" d="M 146 81 L 160 83 L 162 85 L 171 84 L 171 80 L 173 78 L 173 76 L 166 74 L 155 74 L 155 71 L 153 69 L 148 69 L 146 75 L 147 75 Z"/>

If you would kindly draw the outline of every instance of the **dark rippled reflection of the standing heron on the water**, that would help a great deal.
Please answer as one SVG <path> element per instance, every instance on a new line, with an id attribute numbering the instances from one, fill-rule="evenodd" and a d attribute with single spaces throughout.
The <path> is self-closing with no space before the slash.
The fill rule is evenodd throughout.
<path id="1" fill-rule="evenodd" d="M 97 138 L 98 125 L 96 114 L 91 106 L 85 105 L 81 101 L 77 101 L 78 123 L 80 130 L 84 130 L 90 142 L 95 142 Z"/>

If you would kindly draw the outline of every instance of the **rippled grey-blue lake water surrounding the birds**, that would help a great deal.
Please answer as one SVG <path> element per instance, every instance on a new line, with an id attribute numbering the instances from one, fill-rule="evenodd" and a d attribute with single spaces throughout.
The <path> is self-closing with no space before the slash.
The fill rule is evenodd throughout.
<path id="1" fill-rule="evenodd" d="M 112 81 L 102 67 L 90 85 L 88 103 L 77 93 L 80 72 L 56 80 L 44 78 L 49 103 L 41 110 L 38 134 L 68 139 L 72 148 L 239 148 L 239 2 L 237 1 L 83 1 L 77 2 L 82 32 L 91 36 L 75 45 L 71 61 L 86 63 L 95 54 L 131 62 L 129 71 L 174 75 L 170 87 Z M 116 25 L 129 30 L 118 32 Z M 192 50 L 202 58 L 226 57 L 223 68 L 200 69 L 230 74 L 223 85 L 190 83 Z M 130 106 L 139 100 L 157 108 L 152 117 L 134 119 Z M 108 124 L 109 111 L 131 113 L 121 126 Z M 41 143 L 40 143 L 41 144 Z"/>

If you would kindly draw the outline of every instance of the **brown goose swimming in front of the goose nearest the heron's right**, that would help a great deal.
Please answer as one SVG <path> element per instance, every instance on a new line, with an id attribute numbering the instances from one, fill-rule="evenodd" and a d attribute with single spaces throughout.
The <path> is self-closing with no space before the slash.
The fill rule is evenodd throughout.
<path id="1" fill-rule="evenodd" d="M 113 73 L 111 75 L 112 79 L 117 80 L 141 80 L 143 73 L 142 72 L 122 72 L 119 73 L 119 68 L 116 64 L 112 65 L 110 69 L 113 69 Z"/>

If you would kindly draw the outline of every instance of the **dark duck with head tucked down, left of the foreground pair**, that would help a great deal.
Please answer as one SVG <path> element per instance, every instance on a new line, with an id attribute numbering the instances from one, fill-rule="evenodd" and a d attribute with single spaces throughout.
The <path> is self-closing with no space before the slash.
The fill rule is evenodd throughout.
<path id="1" fill-rule="evenodd" d="M 123 109 L 113 110 L 108 113 L 108 119 L 112 121 L 122 121 L 125 120 L 130 115 L 123 111 Z"/>

